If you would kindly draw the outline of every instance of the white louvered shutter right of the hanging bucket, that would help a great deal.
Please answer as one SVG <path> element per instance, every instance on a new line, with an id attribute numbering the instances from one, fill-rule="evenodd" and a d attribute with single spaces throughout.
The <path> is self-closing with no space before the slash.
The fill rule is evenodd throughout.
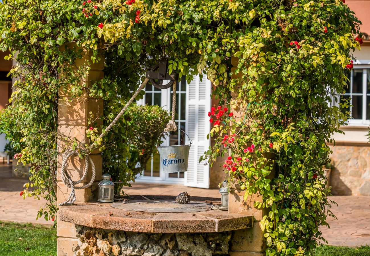
<path id="1" fill-rule="evenodd" d="M 185 186 L 209 188 L 209 165 L 199 163 L 210 145 L 207 134 L 210 131 L 208 111 L 211 108 L 211 81 L 205 75 L 200 81 L 195 76 L 190 84 L 186 85 L 186 128 L 193 144 L 189 151 L 188 171 L 185 172 Z M 186 138 L 186 143 L 189 143 Z"/>

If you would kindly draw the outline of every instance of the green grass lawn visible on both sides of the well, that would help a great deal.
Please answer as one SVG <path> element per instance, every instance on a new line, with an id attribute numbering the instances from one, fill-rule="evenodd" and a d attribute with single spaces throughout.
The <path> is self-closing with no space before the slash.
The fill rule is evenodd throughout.
<path id="1" fill-rule="evenodd" d="M 20 239 L 21 238 L 21 239 Z M 40 225 L 0 221 L 1 256 L 56 256 L 57 232 Z M 369 256 L 370 246 L 339 247 L 322 245 L 315 256 Z"/>

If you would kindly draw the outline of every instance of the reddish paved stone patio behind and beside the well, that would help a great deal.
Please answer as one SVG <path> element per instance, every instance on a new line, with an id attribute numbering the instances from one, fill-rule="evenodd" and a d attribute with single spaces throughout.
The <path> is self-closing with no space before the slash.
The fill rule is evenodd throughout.
<path id="1" fill-rule="evenodd" d="M 0 220 L 49 224 L 53 222 L 39 219 L 37 210 L 45 201 L 19 196 L 27 179 L 13 178 L 11 167 L 0 165 Z M 134 183 L 125 188 L 129 195 L 177 195 L 187 191 L 189 195 L 220 197 L 218 189 L 189 188 L 181 185 L 156 183 Z M 332 196 L 338 203 L 331 208 L 338 219 L 329 217 L 330 229 L 321 228 L 329 245 L 360 246 L 370 245 L 370 196 Z"/>

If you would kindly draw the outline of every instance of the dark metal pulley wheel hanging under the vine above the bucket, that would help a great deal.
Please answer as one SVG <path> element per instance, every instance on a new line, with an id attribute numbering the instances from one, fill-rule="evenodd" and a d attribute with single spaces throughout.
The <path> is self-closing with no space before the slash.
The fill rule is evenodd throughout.
<path id="1" fill-rule="evenodd" d="M 146 78 L 149 78 L 149 81 L 158 89 L 167 89 L 174 84 L 175 81 L 179 80 L 178 73 L 167 73 L 168 60 L 161 60 L 157 65 L 152 67 L 151 70 L 147 71 L 145 74 Z M 164 80 L 168 80 L 167 84 L 163 84 Z"/>

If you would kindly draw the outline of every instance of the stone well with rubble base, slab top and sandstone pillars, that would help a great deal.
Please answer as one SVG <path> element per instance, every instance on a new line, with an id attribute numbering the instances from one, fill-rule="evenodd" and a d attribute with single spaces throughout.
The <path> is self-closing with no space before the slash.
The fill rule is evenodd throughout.
<path id="1" fill-rule="evenodd" d="M 73 46 L 73 45 L 70 45 Z M 83 50 L 83 57 L 75 66 L 85 65 L 91 52 Z M 104 60 L 104 58 L 102 58 Z M 89 65 L 86 78 L 81 84 L 88 88 L 104 77 L 104 62 Z M 103 101 L 90 98 L 87 93 L 70 98 L 68 91 L 60 90 L 58 107 L 58 132 L 73 141 L 87 141 L 88 117 L 102 115 Z M 58 142 L 57 202 L 64 202 L 70 188 L 61 179 L 62 152 L 70 145 Z M 202 202 L 209 209 L 192 212 L 146 212 L 118 209 L 112 203 L 97 202 L 97 188 L 102 175 L 101 153 L 90 154 L 95 164 L 95 181 L 90 188 L 76 190 L 76 201 L 71 206 L 60 206 L 57 212 L 58 256 L 89 255 L 161 255 L 161 256 L 262 256 L 265 250 L 263 232 L 259 220 L 263 212 L 253 208 L 253 202 L 243 202 L 243 192 L 231 191 L 229 211 L 211 206 L 220 199 L 191 197 L 191 202 Z M 84 160 L 71 157 L 67 172 L 74 181 L 83 175 Z M 85 185 L 92 176 L 91 166 Z M 81 185 L 80 185 L 81 186 Z M 146 198 L 146 199 L 145 199 Z M 153 196 L 130 197 L 131 200 L 154 200 Z M 157 198 L 158 199 L 158 198 Z M 163 198 L 162 198 L 163 199 Z M 172 198 L 164 200 L 173 201 Z M 128 202 L 128 205 L 130 205 Z M 123 203 L 123 202 L 122 202 Z M 148 202 L 148 205 L 155 202 Z M 173 208 L 176 204 L 173 203 Z M 256 223 L 253 223 L 254 221 Z"/>

